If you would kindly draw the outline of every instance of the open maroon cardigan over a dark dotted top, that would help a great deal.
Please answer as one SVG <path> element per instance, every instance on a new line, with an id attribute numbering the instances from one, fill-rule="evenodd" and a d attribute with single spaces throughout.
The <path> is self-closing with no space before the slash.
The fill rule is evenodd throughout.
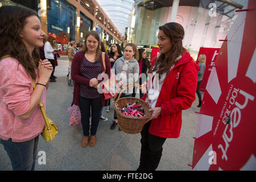
<path id="1" fill-rule="evenodd" d="M 80 95 L 80 84 L 89 85 L 90 80 L 88 78 L 82 77 L 80 73 L 80 68 L 82 65 L 82 61 L 84 60 L 84 52 L 77 52 L 73 58 L 71 65 L 71 78 L 75 81 L 74 92 L 73 92 L 73 104 L 79 106 L 79 95 Z M 101 60 L 101 71 L 104 72 L 104 65 L 102 63 L 102 56 L 100 52 L 100 60 Z M 108 55 L 105 53 L 105 63 L 106 63 L 106 71 L 105 73 L 110 77 L 110 60 Z M 103 80 L 98 80 L 100 83 Z M 105 97 L 104 94 L 101 94 L 101 106 L 105 105 Z"/>

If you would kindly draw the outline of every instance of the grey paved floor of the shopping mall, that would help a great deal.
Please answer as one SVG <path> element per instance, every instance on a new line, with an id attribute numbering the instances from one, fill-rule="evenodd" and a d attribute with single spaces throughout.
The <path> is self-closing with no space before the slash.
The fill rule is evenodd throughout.
<path id="1" fill-rule="evenodd" d="M 109 118 L 100 122 L 97 131 L 97 143 L 94 147 L 81 147 L 81 126 L 69 126 L 68 107 L 72 102 L 73 87 L 67 84 L 68 59 L 61 56 L 58 60 L 55 76 L 57 82 L 50 82 L 47 91 L 46 112 L 49 118 L 59 126 L 59 134 L 49 143 L 39 137 L 38 152 L 46 152 L 46 164 L 39 165 L 37 156 L 36 170 L 136 170 L 139 165 L 141 150 L 141 135 L 126 134 L 110 130 L 113 120 L 113 106 L 109 113 L 103 115 Z M 196 107 L 198 98 L 192 107 L 183 111 L 183 125 L 178 139 L 167 139 L 163 146 L 163 156 L 157 170 L 191 170 L 187 164 L 192 164 L 193 143 L 196 133 L 199 111 Z M 0 170 L 11 170 L 10 160 L 0 144 Z"/>

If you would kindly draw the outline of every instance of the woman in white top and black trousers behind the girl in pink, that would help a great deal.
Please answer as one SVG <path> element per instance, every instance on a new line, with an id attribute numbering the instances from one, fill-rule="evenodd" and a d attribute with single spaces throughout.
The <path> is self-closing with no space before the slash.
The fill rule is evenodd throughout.
<path id="1" fill-rule="evenodd" d="M 49 80 L 50 82 L 56 82 L 56 77 L 53 76 L 55 71 L 54 51 L 57 51 L 55 48 L 55 43 L 56 40 L 52 35 L 49 35 L 46 42 L 44 42 L 44 56 L 51 62 L 53 67 L 53 72 Z"/>

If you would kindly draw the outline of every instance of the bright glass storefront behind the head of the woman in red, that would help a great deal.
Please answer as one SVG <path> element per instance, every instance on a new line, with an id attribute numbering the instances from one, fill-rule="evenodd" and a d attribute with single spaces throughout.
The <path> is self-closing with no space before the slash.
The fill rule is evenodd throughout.
<path id="1" fill-rule="evenodd" d="M 216 14 L 208 7 L 209 3 L 200 1 L 195 6 L 179 6 L 175 22 L 180 23 L 185 31 L 183 46 L 188 49 L 193 59 L 197 59 L 200 47 L 219 48 L 225 39 L 238 13 L 247 4 L 247 0 L 211 1 L 216 6 Z M 150 3 L 150 2 L 148 2 Z M 188 3 L 188 2 L 187 2 Z M 195 2 L 196 3 L 196 2 Z M 137 17 L 132 42 L 138 45 L 156 46 L 159 26 L 170 22 L 172 7 L 159 7 L 154 10 L 147 5 L 135 6 Z"/>

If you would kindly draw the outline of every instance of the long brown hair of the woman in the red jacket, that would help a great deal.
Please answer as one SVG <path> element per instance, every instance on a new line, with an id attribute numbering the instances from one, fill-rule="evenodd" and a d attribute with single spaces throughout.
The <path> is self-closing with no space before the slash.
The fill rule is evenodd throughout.
<path id="1" fill-rule="evenodd" d="M 159 75 L 162 73 L 168 73 L 176 63 L 177 57 L 182 55 L 186 49 L 182 46 L 182 39 L 184 38 L 184 28 L 179 23 L 171 22 L 166 23 L 163 26 L 159 27 L 159 30 L 162 30 L 164 34 L 171 39 L 172 48 L 167 57 L 164 53 L 160 54 L 156 60 L 154 66 L 150 69 L 149 73 L 156 71 Z"/>

